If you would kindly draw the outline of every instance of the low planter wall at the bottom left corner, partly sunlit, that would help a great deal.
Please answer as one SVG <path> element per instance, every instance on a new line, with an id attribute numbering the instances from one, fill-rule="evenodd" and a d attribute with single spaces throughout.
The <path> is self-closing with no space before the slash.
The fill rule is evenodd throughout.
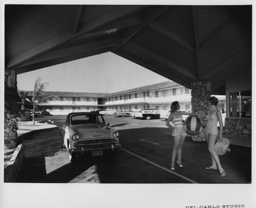
<path id="1" fill-rule="evenodd" d="M 15 180 L 18 175 L 18 171 L 20 166 L 23 163 L 25 145 L 24 141 L 22 141 L 15 149 L 12 154 L 12 158 L 10 162 L 4 169 L 4 182 L 5 183 L 15 183 Z"/>

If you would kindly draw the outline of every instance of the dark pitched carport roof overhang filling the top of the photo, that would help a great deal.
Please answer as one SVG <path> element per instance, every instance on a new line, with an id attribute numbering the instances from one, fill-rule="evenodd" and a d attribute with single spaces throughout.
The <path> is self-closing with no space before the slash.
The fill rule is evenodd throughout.
<path id="1" fill-rule="evenodd" d="M 5 68 L 17 74 L 111 51 L 190 88 L 251 70 L 252 6 L 6 5 Z"/>

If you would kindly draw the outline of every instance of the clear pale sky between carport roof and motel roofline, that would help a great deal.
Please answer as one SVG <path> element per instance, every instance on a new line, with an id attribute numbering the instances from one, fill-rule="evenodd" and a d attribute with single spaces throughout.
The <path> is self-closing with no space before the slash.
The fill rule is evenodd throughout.
<path id="1" fill-rule="evenodd" d="M 32 91 L 35 80 L 46 91 L 113 93 L 170 81 L 111 52 L 17 74 L 19 90 Z"/>

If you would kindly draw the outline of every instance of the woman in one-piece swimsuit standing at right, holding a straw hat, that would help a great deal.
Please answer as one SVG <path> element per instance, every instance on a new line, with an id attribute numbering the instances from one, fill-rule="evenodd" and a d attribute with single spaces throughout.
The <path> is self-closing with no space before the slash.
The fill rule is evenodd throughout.
<path id="1" fill-rule="evenodd" d="M 222 122 L 221 112 L 217 109 L 218 102 L 219 102 L 219 100 L 216 97 L 210 97 L 208 99 L 208 107 L 207 107 L 208 112 L 206 115 L 207 123 L 205 125 L 205 139 L 208 144 L 208 150 L 210 152 L 212 164 L 211 164 L 211 166 L 206 167 L 205 169 L 217 170 L 217 167 L 218 167 L 221 176 L 225 176 L 226 172 L 221 167 L 219 156 L 218 156 L 217 152 L 215 151 L 215 143 L 216 143 L 217 136 L 218 136 L 218 127 L 217 127 L 218 121 L 220 123 L 219 142 L 223 141 L 223 138 L 222 138 L 223 122 Z"/>

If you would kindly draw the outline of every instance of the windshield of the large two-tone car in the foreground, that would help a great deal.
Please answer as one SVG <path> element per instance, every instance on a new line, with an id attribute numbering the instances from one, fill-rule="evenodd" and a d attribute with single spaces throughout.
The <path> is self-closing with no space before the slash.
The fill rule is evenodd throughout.
<path id="1" fill-rule="evenodd" d="M 73 115 L 71 117 L 71 125 L 79 124 L 94 124 L 94 123 L 104 123 L 103 117 L 100 115 Z"/>

